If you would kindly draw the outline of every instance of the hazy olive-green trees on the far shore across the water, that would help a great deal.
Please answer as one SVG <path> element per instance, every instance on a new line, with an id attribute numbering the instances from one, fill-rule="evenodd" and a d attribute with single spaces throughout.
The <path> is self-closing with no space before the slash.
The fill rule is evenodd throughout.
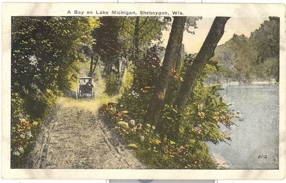
<path id="1" fill-rule="evenodd" d="M 236 35 L 215 50 L 222 69 L 208 79 L 216 82 L 279 82 L 280 19 L 269 17 L 250 37 Z"/>

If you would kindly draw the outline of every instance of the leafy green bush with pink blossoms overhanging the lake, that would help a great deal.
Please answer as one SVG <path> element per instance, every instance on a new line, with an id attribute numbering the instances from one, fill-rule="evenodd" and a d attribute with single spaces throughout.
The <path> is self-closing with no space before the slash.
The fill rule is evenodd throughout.
<path id="1" fill-rule="evenodd" d="M 239 115 L 229 110 L 218 95 L 219 89 L 219 84 L 204 87 L 202 82 L 197 83 L 193 99 L 181 114 L 178 141 L 194 139 L 217 144 L 230 140 L 228 133 L 219 131 L 219 125 L 230 128 Z"/>

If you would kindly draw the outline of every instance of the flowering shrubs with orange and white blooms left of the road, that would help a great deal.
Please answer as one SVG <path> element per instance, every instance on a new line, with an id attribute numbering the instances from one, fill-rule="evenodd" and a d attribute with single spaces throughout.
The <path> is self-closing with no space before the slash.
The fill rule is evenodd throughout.
<path id="1" fill-rule="evenodd" d="M 36 140 L 38 126 L 57 99 L 55 91 L 34 85 L 11 94 L 11 168 L 23 168 Z"/>

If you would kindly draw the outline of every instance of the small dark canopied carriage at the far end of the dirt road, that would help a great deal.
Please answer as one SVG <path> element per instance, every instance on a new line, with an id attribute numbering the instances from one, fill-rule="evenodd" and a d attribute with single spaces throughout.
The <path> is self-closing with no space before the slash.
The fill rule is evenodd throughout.
<path id="1" fill-rule="evenodd" d="M 92 98 L 94 99 L 94 87 L 92 77 L 80 77 L 76 89 L 76 99 Z"/>

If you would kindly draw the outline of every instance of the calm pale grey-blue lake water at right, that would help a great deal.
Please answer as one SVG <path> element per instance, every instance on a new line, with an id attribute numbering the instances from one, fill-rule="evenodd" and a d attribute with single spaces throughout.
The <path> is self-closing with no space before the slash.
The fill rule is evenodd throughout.
<path id="1" fill-rule="evenodd" d="M 279 168 L 279 86 L 275 84 L 225 84 L 221 95 L 240 112 L 241 120 L 229 131 L 228 144 L 207 143 L 223 157 L 229 169 Z M 263 158 L 258 158 L 262 156 Z M 264 157 L 267 158 L 264 158 Z"/>

